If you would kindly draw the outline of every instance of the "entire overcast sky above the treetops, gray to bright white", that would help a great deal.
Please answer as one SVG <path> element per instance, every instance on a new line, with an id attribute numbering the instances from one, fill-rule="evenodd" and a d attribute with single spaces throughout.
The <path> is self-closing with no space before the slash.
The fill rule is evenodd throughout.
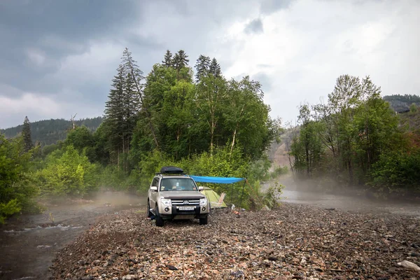
<path id="1" fill-rule="evenodd" d="M 165 50 L 260 80 L 295 120 L 344 73 L 420 94 L 420 1 L 0 1 L 0 127 L 102 116 L 125 47 L 148 73 Z"/>

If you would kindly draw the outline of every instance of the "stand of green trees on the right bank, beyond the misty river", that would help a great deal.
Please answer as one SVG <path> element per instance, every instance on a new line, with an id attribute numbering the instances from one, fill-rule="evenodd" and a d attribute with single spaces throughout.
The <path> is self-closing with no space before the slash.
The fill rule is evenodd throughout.
<path id="1" fill-rule="evenodd" d="M 420 131 L 407 125 L 417 119 L 417 106 L 398 114 L 380 94 L 369 76 L 343 75 L 327 102 L 301 104 L 290 144 L 295 176 L 380 195 L 419 195 Z"/>

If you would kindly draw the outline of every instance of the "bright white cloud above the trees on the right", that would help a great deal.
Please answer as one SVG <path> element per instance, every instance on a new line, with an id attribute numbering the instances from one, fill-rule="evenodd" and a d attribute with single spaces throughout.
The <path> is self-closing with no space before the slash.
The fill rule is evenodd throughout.
<path id="1" fill-rule="evenodd" d="M 252 18 L 225 28 L 236 48 L 225 73 L 264 71 L 265 100 L 283 120 L 300 102 L 326 98 L 344 73 L 370 75 L 383 94 L 419 94 L 419 14 L 417 1 L 295 1 L 262 17 L 263 34 L 241 31 Z"/>

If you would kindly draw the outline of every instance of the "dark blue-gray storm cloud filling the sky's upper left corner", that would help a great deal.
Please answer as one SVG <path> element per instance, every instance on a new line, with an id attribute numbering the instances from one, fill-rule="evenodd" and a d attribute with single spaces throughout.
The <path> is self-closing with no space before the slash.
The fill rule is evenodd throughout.
<path id="1" fill-rule="evenodd" d="M 64 57 L 124 31 L 139 13 L 134 1 L 2 1 L 1 80 L 25 91 L 55 92 L 43 86 L 43 78 L 55 73 Z"/>

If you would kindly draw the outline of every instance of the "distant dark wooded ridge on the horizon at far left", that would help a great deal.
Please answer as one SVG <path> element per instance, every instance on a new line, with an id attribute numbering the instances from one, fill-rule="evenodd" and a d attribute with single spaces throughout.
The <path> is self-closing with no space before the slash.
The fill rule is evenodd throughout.
<path id="1" fill-rule="evenodd" d="M 31 120 L 29 118 L 29 120 Z M 85 125 L 90 131 L 95 131 L 99 125 L 101 125 L 103 118 L 84 118 L 75 120 L 77 126 Z M 23 123 L 23 120 L 22 120 Z M 55 144 L 59 140 L 66 139 L 67 132 L 72 127 L 71 120 L 61 119 L 50 119 L 50 120 L 38 120 L 30 124 L 31 137 L 34 144 L 38 141 L 41 146 Z M 4 130 L 0 130 L 1 134 L 4 134 L 6 138 L 17 137 L 22 132 L 22 125 L 17 127 L 9 127 Z"/>

